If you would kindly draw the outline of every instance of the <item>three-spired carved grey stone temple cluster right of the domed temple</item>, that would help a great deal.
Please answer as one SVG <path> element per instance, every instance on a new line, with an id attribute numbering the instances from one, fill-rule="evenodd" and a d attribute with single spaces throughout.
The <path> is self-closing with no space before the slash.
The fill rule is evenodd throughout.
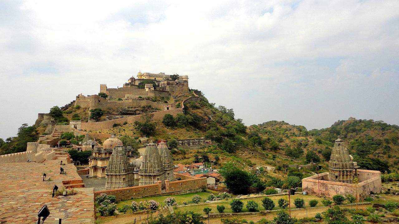
<path id="1" fill-rule="evenodd" d="M 137 185 L 156 184 L 165 180 L 174 181 L 173 159 L 164 141 L 159 148 L 154 143 L 146 145 L 144 155 L 129 163 L 124 147 L 117 145 L 105 171 L 105 188 L 115 189 Z"/>

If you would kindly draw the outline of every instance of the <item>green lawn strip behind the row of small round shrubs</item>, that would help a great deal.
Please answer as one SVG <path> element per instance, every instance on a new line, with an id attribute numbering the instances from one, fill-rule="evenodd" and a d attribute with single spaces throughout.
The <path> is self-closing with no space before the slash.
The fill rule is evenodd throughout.
<path id="1" fill-rule="evenodd" d="M 265 195 L 266 196 L 266 195 Z M 279 209 L 279 204 L 277 203 L 277 200 L 279 200 L 279 198 L 287 198 L 288 199 L 288 195 L 280 195 L 280 196 L 272 196 L 270 197 L 274 203 L 275 203 L 275 208 L 274 209 Z M 317 196 L 313 196 L 313 195 L 292 195 L 291 196 L 291 208 L 295 208 L 294 205 L 294 199 L 296 198 L 303 198 L 305 200 L 305 206 L 307 208 L 309 208 L 309 201 L 312 199 L 317 199 L 319 201 L 319 203 L 317 204 L 317 206 L 323 206 L 323 204 L 321 203 L 322 198 L 319 198 Z M 258 210 L 265 210 L 265 208 L 263 208 L 262 206 L 262 199 L 263 197 L 259 197 L 259 198 L 252 198 L 252 199 L 241 199 L 241 201 L 243 201 L 244 203 L 244 207 L 243 210 L 241 210 L 241 212 L 249 212 L 247 210 L 247 208 L 245 207 L 245 205 L 247 204 L 247 201 L 253 200 L 256 201 L 257 203 L 259 203 L 259 209 Z M 195 205 L 193 204 L 192 206 L 184 206 L 184 207 L 179 207 L 178 209 L 182 210 L 182 211 L 193 211 L 193 212 L 197 212 L 197 213 L 203 213 L 203 208 L 205 207 L 209 207 L 212 209 L 211 213 L 217 213 L 217 209 L 216 206 L 217 205 L 224 205 L 225 206 L 225 210 L 224 212 L 233 212 L 230 208 L 230 200 L 229 201 L 220 201 L 219 203 L 211 203 L 211 204 L 206 204 L 206 205 Z"/>

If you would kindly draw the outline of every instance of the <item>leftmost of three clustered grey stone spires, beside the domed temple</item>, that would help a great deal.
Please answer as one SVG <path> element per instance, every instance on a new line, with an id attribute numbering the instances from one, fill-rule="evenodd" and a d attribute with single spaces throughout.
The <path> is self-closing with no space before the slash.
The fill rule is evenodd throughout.
<path id="1" fill-rule="evenodd" d="M 112 150 L 107 169 L 105 169 L 105 189 L 129 187 L 133 185 L 133 167 L 130 166 L 124 148 L 118 144 Z"/>

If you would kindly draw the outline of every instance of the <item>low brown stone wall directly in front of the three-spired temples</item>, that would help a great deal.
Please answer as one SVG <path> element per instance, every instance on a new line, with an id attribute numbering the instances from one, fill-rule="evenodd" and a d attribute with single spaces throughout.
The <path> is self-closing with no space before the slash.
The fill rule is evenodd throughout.
<path id="1" fill-rule="evenodd" d="M 175 173 L 176 174 L 176 173 Z M 206 187 L 206 178 L 192 178 L 181 181 L 165 181 L 166 190 L 162 191 L 162 184 L 150 184 L 135 187 L 123 187 L 105 191 L 95 191 L 94 197 L 97 197 L 101 193 L 107 195 L 115 195 L 117 201 L 129 200 L 135 198 L 142 198 L 148 196 L 159 196 L 159 195 L 180 195 L 186 193 L 195 193 L 202 191 L 203 186 Z"/>

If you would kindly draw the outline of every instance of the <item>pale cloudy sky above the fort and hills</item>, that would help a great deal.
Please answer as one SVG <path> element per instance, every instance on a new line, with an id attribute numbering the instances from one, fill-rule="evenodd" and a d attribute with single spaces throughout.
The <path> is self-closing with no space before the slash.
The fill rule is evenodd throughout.
<path id="1" fill-rule="evenodd" d="M 246 125 L 399 124 L 399 1 L 0 0 L 0 138 L 138 71 Z"/>

